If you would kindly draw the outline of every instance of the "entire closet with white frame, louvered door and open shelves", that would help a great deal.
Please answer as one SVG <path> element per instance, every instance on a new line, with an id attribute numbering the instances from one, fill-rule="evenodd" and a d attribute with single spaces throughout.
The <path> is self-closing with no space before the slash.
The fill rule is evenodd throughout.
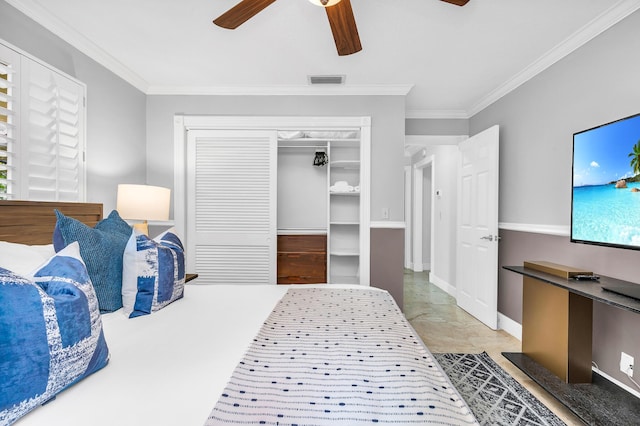
<path id="1" fill-rule="evenodd" d="M 369 285 L 368 117 L 176 116 L 175 148 L 200 282 Z"/>

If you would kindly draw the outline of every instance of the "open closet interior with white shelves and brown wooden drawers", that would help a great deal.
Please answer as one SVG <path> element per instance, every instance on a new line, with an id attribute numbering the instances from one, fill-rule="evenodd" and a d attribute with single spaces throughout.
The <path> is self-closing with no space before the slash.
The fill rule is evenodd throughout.
<path id="1" fill-rule="evenodd" d="M 360 179 L 358 131 L 278 132 L 278 283 L 360 283 Z"/>

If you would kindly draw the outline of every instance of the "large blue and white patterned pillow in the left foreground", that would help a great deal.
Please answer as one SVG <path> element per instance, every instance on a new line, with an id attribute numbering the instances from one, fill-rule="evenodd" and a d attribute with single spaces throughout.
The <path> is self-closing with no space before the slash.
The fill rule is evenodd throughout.
<path id="1" fill-rule="evenodd" d="M 108 358 L 78 243 L 29 277 L 0 268 L 0 424 L 100 370 Z"/>

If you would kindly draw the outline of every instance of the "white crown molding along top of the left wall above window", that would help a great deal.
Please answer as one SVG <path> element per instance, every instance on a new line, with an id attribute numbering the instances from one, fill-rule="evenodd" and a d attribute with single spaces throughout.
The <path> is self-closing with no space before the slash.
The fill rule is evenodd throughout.
<path id="1" fill-rule="evenodd" d="M 112 71 L 136 89 L 146 93 L 149 84 L 142 77 L 131 71 L 131 69 L 106 53 L 78 31 L 60 21 L 40 5 L 31 0 L 6 0 L 6 2 L 103 67 Z"/>

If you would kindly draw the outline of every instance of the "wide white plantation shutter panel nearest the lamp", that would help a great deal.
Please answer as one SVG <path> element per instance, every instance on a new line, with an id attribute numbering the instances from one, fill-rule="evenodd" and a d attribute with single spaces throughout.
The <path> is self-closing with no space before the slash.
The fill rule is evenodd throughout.
<path id="1" fill-rule="evenodd" d="M 23 64 L 22 198 L 84 200 L 84 87 L 39 63 Z"/>

